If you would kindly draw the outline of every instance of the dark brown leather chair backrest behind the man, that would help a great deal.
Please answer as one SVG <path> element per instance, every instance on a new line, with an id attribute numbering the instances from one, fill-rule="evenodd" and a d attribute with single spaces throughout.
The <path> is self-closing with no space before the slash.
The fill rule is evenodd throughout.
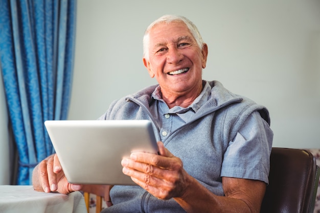
<path id="1" fill-rule="evenodd" d="M 269 185 L 261 213 L 311 213 L 319 171 L 307 150 L 272 148 Z"/>

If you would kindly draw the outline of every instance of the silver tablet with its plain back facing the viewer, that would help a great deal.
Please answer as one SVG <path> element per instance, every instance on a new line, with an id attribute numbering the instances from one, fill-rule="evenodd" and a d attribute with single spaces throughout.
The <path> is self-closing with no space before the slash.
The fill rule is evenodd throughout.
<path id="1" fill-rule="evenodd" d="M 157 153 L 148 120 L 45 121 L 66 179 L 78 184 L 135 185 L 122 173 L 131 152 Z"/>

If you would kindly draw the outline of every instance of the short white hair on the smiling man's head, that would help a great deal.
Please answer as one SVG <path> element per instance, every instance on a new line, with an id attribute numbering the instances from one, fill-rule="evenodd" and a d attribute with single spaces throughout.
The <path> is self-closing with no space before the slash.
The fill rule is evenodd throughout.
<path id="1" fill-rule="evenodd" d="M 178 16 L 178 15 L 164 15 L 155 21 L 153 21 L 147 30 L 145 31 L 145 34 L 143 36 L 143 57 L 149 58 L 149 34 L 151 29 L 157 25 L 158 23 L 171 23 L 171 22 L 182 22 L 185 23 L 187 28 L 189 29 L 190 33 L 193 35 L 194 39 L 196 40 L 200 50 L 202 50 L 203 47 L 203 39 L 197 29 L 197 27 L 194 25 L 192 21 L 190 21 L 188 18 L 184 16 Z"/>

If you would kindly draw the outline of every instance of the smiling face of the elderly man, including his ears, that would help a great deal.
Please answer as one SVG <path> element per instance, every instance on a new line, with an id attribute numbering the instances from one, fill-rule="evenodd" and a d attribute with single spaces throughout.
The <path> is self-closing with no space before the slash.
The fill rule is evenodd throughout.
<path id="1" fill-rule="evenodd" d="M 159 23 L 150 31 L 149 58 L 143 61 L 163 93 L 182 96 L 202 88 L 207 54 L 207 45 L 201 51 L 185 23 Z"/>

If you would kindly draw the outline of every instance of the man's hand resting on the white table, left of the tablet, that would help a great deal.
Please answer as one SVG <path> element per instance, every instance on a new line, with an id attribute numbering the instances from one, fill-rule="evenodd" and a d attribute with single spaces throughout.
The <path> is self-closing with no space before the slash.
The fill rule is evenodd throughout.
<path id="1" fill-rule="evenodd" d="M 80 184 L 68 183 L 56 154 L 42 160 L 33 170 L 32 185 L 39 192 L 69 194 L 79 191 Z"/>

